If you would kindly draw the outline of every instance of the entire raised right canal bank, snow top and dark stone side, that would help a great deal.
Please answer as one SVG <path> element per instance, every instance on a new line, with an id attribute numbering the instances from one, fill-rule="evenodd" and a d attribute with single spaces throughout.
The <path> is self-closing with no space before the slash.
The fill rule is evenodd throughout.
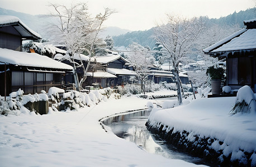
<path id="1" fill-rule="evenodd" d="M 235 97 L 203 98 L 153 109 L 148 129 L 193 155 L 229 166 L 256 166 L 256 114 L 230 115 Z"/>

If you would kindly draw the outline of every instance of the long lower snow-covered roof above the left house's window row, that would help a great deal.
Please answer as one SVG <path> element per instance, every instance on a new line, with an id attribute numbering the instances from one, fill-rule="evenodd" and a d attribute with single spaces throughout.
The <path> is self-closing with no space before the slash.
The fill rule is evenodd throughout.
<path id="1" fill-rule="evenodd" d="M 0 48 L 0 62 L 18 66 L 72 70 L 73 67 L 37 53 L 18 52 Z"/>

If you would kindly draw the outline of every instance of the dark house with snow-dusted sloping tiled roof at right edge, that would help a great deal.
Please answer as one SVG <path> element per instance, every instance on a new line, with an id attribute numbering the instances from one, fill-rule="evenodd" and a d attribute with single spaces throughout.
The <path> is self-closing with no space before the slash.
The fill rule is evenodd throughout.
<path id="1" fill-rule="evenodd" d="M 239 89 L 248 85 L 254 92 L 256 84 L 256 19 L 244 21 L 246 28 L 203 50 L 206 54 L 226 58 L 226 85 Z"/>

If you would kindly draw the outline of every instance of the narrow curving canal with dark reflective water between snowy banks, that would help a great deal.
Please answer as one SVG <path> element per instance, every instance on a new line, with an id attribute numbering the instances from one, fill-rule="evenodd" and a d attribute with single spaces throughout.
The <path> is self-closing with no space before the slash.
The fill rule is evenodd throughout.
<path id="1" fill-rule="evenodd" d="M 110 127 L 112 132 L 122 139 L 134 142 L 139 148 L 152 154 L 159 154 L 169 159 L 181 159 L 193 164 L 216 166 L 205 160 L 182 153 L 172 145 L 151 134 L 145 126 L 150 111 L 137 111 L 129 114 L 108 117 L 102 123 Z"/>

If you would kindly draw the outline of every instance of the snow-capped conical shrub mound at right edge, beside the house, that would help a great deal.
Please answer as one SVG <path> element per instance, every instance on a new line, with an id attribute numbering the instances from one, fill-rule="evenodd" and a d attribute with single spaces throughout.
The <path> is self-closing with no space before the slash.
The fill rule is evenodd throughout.
<path id="1" fill-rule="evenodd" d="M 245 85 L 238 90 L 236 94 L 235 106 L 230 111 L 230 114 L 241 113 L 255 113 L 256 112 L 256 102 L 255 96 L 252 89 Z"/>

